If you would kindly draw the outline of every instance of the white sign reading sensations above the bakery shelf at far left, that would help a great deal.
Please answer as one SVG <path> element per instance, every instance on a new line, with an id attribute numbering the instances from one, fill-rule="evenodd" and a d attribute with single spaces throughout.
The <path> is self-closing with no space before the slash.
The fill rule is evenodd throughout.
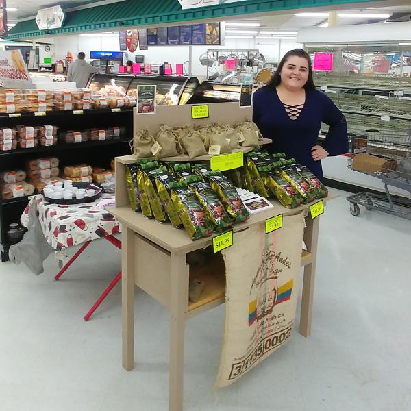
<path id="1" fill-rule="evenodd" d="M 0 82 L 4 88 L 34 87 L 20 50 L 0 51 Z"/>

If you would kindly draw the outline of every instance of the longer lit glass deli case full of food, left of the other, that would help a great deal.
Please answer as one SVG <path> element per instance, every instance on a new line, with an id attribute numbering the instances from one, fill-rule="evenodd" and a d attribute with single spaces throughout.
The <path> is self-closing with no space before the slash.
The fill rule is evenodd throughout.
<path id="1" fill-rule="evenodd" d="M 105 95 L 137 97 L 138 86 L 145 85 L 157 86 L 158 105 L 180 105 L 188 102 L 200 83 L 197 77 L 95 73 L 87 87 Z"/>

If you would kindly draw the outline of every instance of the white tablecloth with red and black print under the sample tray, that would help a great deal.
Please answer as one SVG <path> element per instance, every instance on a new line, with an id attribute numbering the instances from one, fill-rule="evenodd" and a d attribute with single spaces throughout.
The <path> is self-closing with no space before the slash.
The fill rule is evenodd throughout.
<path id="1" fill-rule="evenodd" d="M 113 198 L 113 195 L 102 195 L 93 203 L 66 206 L 47 203 L 42 195 L 36 195 L 27 204 L 21 223 L 27 227 L 30 207 L 36 201 L 42 232 L 57 251 L 56 258 L 61 266 L 68 260 L 67 247 L 121 232 L 121 225 L 114 216 L 97 206 L 102 200 Z"/>

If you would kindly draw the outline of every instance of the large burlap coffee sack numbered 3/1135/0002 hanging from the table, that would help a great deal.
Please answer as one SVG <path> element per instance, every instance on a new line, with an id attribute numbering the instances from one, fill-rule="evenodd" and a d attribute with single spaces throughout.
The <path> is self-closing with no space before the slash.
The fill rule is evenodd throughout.
<path id="1" fill-rule="evenodd" d="M 303 213 L 284 217 L 282 229 L 265 234 L 261 224 L 236 232 L 234 245 L 221 251 L 225 332 L 216 389 L 232 384 L 290 339 L 303 227 Z"/>

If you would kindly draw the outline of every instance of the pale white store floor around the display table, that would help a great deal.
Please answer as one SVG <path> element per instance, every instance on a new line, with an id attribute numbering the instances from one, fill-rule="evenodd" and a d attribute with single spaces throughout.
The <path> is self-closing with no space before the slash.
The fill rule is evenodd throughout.
<path id="1" fill-rule="evenodd" d="M 411 221 L 355 218 L 347 193 L 321 221 L 314 321 L 288 345 L 219 392 L 224 307 L 186 327 L 185 411 L 411 410 Z M 95 242 L 53 280 L 53 256 L 35 277 L 0 264 L 1 411 L 166 411 L 168 316 L 136 291 L 136 368 L 121 368 L 121 290 L 83 316 L 120 266 Z M 299 308 L 298 308 L 299 310 Z"/>

